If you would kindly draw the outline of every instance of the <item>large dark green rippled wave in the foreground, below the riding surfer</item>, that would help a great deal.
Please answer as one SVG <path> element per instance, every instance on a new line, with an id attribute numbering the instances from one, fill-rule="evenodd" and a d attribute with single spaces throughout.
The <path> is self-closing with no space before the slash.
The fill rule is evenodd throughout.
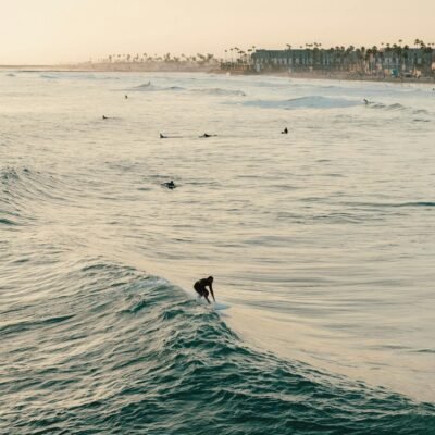
<path id="1" fill-rule="evenodd" d="M 104 258 L 53 261 L 45 272 L 21 288 L 9 276 L 8 291 L 33 298 L 1 307 L 2 433 L 202 434 L 212 425 L 220 434 L 423 435 L 435 427 L 431 406 L 250 348 L 164 279 Z"/>

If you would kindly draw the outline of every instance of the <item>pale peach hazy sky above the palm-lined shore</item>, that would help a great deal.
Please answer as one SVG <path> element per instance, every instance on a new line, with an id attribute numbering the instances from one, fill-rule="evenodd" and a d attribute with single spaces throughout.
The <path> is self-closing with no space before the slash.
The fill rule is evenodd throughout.
<path id="1" fill-rule="evenodd" d="M 0 64 L 435 42 L 435 0 L 0 0 Z"/>

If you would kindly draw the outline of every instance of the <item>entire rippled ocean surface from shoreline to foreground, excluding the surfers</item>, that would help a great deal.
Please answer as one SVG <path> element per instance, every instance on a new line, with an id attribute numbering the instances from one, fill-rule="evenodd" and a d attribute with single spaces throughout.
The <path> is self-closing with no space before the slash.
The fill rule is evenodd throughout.
<path id="1" fill-rule="evenodd" d="M 1 434 L 435 434 L 432 85 L 3 71 L 0 102 Z"/>

